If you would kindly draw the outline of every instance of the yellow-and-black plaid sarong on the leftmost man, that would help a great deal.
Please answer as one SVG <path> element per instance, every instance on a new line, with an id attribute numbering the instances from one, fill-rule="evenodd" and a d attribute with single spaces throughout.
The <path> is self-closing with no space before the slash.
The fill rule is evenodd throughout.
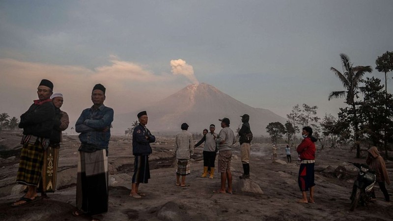
<path id="1" fill-rule="evenodd" d="M 38 185 L 42 172 L 43 154 L 41 142 L 23 144 L 16 182 L 28 186 Z"/>

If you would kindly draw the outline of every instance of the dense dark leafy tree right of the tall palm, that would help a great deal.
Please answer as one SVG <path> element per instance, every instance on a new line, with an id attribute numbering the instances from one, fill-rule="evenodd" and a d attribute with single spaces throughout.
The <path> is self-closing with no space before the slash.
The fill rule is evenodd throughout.
<path id="1" fill-rule="evenodd" d="M 387 159 L 388 140 L 393 136 L 393 99 L 391 94 L 385 94 L 380 83 L 374 77 L 365 82 L 364 100 L 358 103 L 360 130 L 374 146 L 384 146 Z"/>

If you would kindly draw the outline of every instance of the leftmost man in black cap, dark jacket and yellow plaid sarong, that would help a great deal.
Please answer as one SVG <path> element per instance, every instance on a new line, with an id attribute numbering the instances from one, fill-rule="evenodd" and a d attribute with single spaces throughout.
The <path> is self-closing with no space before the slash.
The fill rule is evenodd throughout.
<path id="1" fill-rule="evenodd" d="M 19 128 L 23 128 L 23 144 L 16 181 L 27 185 L 28 192 L 12 206 L 22 206 L 38 200 L 37 185 L 41 178 L 44 150 L 48 148 L 51 138 L 55 107 L 50 99 L 53 83 L 43 79 L 38 86 L 38 100 L 21 115 Z"/>

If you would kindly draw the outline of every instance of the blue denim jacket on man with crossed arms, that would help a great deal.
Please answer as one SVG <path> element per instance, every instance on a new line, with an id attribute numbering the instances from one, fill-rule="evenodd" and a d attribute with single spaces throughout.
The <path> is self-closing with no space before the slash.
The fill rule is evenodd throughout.
<path id="1" fill-rule="evenodd" d="M 106 127 L 111 128 L 113 109 L 101 105 L 97 110 L 88 108 L 82 111 L 75 124 L 75 131 L 81 133 L 79 139 L 82 144 L 93 146 L 97 149 L 108 149 L 111 129 L 103 132 Z"/>

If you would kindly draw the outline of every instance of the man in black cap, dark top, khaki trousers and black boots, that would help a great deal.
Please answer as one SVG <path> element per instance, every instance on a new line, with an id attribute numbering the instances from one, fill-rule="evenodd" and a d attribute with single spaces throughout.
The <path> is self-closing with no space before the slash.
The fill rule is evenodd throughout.
<path id="1" fill-rule="evenodd" d="M 240 160 L 243 165 L 243 175 L 239 176 L 240 179 L 250 178 L 250 146 L 251 140 L 247 138 L 247 135 L 251 133 L 250 128 L 250 116 L 248 114 L 243 114 L 240 116 L 242 118 L 242 128 L 239 131 L 239 143 L 240 143 Z"/>

